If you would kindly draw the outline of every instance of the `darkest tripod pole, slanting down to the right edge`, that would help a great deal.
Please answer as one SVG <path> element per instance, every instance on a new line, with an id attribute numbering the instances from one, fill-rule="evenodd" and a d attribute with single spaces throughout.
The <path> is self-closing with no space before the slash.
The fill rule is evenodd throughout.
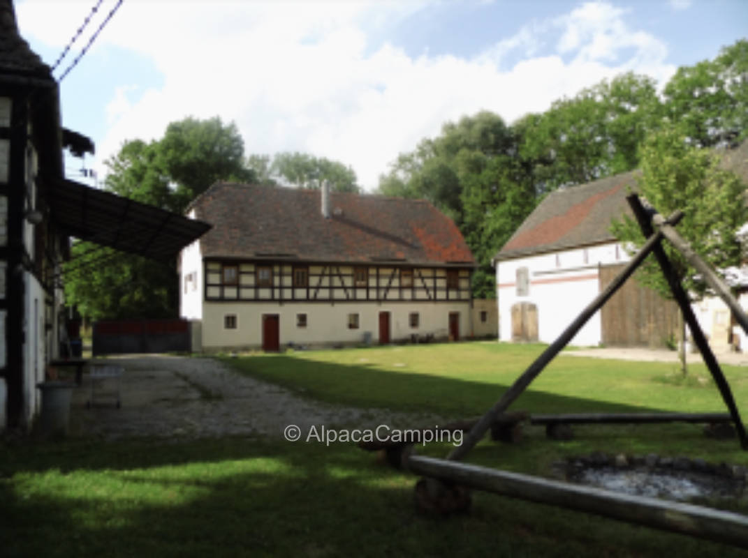
<path id="1" fill-rule="evenodd" d="M 643 234 L 645 236 L 652 235 L 652 223 L 649 219 L 649 214 L 647 214 L 646 209 L 639 199 L 639 196 L 634 193 L 631 194 L 631 196 L 627 196 L 626 199 L 628 200 L 628 205 L 631 206 L 631 210 L 634 211 L 634 215 L 637 217 L 637 221 L 639 222 Z M 660 232 L 664 234 L 663 229 L 665 229 L 665 227 L 660 225 Z M 675 245 L 675 247 L 677 248 L 678 246 Z M 730 385 L 727 383 L 727 379 L 722 373 L 720 363 L 717 362 L 717 358 L 714 356 L 714 353 L 711 352 L 711 347 L 709 347 L 704 332 L 702 332 L 701 326 L 699 326 L 699 320 L 696 320 L 696 315 L 693 314 L 688 295 L 681 283 L 678 281 L 678 277 L 675 275 L 675 271 L 672 269 L 672 264 L 670 264 L 670 260 L 667 258 L 663 247 L 659 245 L 654 247 L 654 257 L 657 258 L 657 263 L 660 264 L 660 269 L 667 279 L 670 291 L 672 291 L 672 296 L 675 297 L 675 301 L 678 303 L 678 306 L 681 307 L 683 318 L 688 324 L 688 329 L 691 330 L 693 342 L 696 343 L 696 347 L 699 347 L 699 350 L 702 353 L 702 358 L 704 359 L 707 368 L 709 368 L 711 376 L 717 384 L 717 388 L 720 389 L 720 394 L 722 394 L 722 398 L 730 412 L 732 422 L 735 424 L 735 429 L 738 430 L 738 438 L 741 440 L 741 447 L 743 447 L 744 450 L 748 450 L 748 437 L 746 435 L 743 421 L 741 421 L 738 407 L 735 405 L 735 397 L 732 396 Z"/>

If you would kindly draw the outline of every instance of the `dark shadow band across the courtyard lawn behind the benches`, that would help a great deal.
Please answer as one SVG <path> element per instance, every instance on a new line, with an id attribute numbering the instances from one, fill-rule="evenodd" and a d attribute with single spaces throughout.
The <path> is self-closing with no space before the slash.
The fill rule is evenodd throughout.
<path id="1" fill-rule="evenodd" d="M 420 347 L 419 347 L 420 349 Z M 536 347 L 530 349 L 538 350 Z M 413 348 L 411 347 L 411 350 Z M 426 350 L 424 348 L 423 350 Z M 366 354 L 366 352 L 362 352 Z M 501 397 L 506 388 L 517 379 L 523 368 L 516 368 L 514 373 L 496 375 L 490 380 L 459 379 L 454 376 L 411 373 L 400 369 L 397 371 L 376 368 L 373 363 L 356 365 L 340 364 L 307 359 L 303 353 L 289 355 L 251 356 L 248 358 L 221 359 L 236 370 L 250 376 L 283 385 L 304 396 L 313 397 L 329 403 L 342 403 L 359 407 L 380 407 L 402 411 L 431 412 L 447 418 L 467 418 L 485 413 Z M 592 360 L 592 359 L 589 359 Z M 527 364 L 531 359 L 527 359 Z M 611 368 L 610 362 L 597 361 L 595 366 Z M 616 364 L 613 367 L 631 367 L 631 363 Z M 545 370 L 539 378 L 553 375 Z M 488 378 L 488 373 L 482 376 Z M 604 379 L 600 376 L 600 379 Z M 622 379 L 625 376 L 622 375 Z M 595 389 L 595 376 L 589 379 L 576 379 L 569 376 L 569 382 L 591 384 L 589 397 L 575 397 L 536 389 L 533 383 L 512 403 L 510 409 L 524 409 L 536 413 L 564 412 L 657 412 L 673 409 L 645 405 L 643 394 L 632 392 L 628 400 L 631 403 L 620 403 L 600 400 Z M 585 391 L 583 385 L 578 391 Z M 716 389 L 714 393 L 717 394 Z M 718 396 L 717 396 L 718 397 Z M 621 397 L 613 397 L 613 399 Z M 716 411 L 725 407 L 717 401 Z"/>

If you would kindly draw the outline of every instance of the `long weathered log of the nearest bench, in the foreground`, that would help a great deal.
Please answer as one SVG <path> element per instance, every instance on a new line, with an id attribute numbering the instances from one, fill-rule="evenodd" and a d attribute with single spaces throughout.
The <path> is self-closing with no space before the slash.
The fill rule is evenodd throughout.
<path id="1" fill-rule="evenodd" d="M 459 486 L 748 548 L 747 515 L 432 457 L 411 455 L 405 464 L 413 473 Z"/>

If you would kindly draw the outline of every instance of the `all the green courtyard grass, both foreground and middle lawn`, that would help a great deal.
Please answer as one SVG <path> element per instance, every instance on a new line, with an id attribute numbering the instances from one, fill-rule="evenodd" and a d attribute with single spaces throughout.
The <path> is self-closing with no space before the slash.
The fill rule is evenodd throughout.
<path id="1" fill-rule="evenodd" d="M 322 400 L 478 415 L 542 347 L 386 347 L 229 359 Z M 721 411 L 713 385 L 673 382 L 675 365 L 564 357 L 515 405 L 536 412 Z M 696 367 L 693 374 L 702 373 Z M 727 369 L 748 400 L 748 370 Z M 741 411 L 748 415 L 743 406 Z M 626 451 L 748 463 L 737 441 L 688 424 L 578 427 L 567 442 L 528 427 L 483 441 L 470 462 L 548 475 L 556 459 Z M 420 453 L 444 456 L 449 445 Z M 414 477 L 351 444 L 223 438 L 165 443 L 68 440 L 0 446 L 0 554 L 68 556 L 737 557 L 744 551 L 551 506 L 473 494 L 469 515 L 414 512 Z M 729 505 L 748 512 L 748 502 Z"/>

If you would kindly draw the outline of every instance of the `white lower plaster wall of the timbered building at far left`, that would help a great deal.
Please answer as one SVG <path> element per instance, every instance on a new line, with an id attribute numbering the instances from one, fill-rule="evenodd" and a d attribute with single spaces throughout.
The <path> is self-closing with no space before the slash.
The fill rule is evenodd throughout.
<path id="1" fill-rule="evenodd" d="M 24 273 L 25 279 L 25 343 L 23 347 L 23 397 L 24 420 L 27 427 L 33 423 L 40 411 L 41 394 L 37 382 L 44 379 L 46 368 L 46 337 L 44 332 L 45 293 L 31 273 Z M 34 301 L 37 301 L 34 304 Z M 35 314 L 35 315 L 34 315 Z"/>

